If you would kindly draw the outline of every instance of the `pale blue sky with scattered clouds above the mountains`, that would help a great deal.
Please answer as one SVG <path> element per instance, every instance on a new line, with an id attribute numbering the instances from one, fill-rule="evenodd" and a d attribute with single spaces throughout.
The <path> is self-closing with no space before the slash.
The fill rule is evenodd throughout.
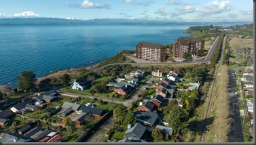
<path id="1" fill-rule="evenodd" d="M 31 11 L 52 18 L 253 22 L 253 0 L 0 0 L 0 18 Z"/>

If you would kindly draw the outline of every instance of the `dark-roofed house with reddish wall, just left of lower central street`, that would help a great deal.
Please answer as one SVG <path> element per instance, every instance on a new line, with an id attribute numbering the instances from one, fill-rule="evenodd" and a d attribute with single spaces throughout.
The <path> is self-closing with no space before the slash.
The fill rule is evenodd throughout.
<path id="1" fill-rule="evenodd" d="M 102 119 L 103 115 L 105 115 L 106 111 L 102 108 L 95 108 L 95 107 L 88 107 L 82 105 L 79 110 L 82 112 L 90 112 L 90 114 L 95 117 L 96 119 Z"/>

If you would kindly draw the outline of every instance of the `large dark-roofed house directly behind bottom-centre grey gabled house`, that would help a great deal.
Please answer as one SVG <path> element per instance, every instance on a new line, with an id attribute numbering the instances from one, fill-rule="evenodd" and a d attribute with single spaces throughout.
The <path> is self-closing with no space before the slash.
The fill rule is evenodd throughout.
<path id="1" fill-rule="evenodd" d="M 155 127 L 157 124 L 158 114 L 147 111 L 137 111 L 134 112 L 134 117 L 136 117 L 137 121 L 143 125 L 147 125 L 149 127 Z"/>

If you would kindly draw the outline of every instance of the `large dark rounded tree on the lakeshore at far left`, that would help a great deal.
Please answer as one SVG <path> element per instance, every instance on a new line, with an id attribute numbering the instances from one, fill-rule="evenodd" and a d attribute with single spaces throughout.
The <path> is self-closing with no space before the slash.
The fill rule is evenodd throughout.
<path id="1" fill-rule="evenodd" d="M 22 71 L 20 76 L 17 77 L 18 79 L 18 88 L 23 91 L 29 91 L 35 88 L 35 74 L 33 70 Z"/>

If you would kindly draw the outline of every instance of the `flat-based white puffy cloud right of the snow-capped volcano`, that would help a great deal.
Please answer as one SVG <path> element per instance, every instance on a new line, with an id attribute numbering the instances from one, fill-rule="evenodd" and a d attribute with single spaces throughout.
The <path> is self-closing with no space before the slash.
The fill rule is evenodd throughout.
<path id="1" fill-rule="evenodd" d="M 79 4 L 70 4 L 69 7 L 78 7 L 80 9 L 110 9 L 109 5 L 92 3 L 89 0 L 84 0 Z"/>

